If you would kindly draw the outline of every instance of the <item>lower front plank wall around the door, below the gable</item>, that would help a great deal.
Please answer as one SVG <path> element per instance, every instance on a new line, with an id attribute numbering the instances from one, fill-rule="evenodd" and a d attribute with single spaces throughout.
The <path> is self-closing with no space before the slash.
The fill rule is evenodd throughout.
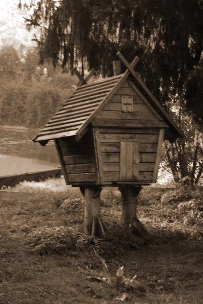
<path id="1" fill-rule="evenodd" d="M 139 181 L 152 182 L 159 129 L 100 128 L 104 181 L 119 182 L 120 141 L 139 142 Z"/>

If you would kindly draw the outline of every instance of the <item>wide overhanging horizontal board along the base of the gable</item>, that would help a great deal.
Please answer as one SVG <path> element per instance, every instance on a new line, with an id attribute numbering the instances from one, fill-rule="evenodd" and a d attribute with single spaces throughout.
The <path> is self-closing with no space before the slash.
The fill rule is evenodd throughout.
<path id="1" fill-rule="evenodd" d="M 165 122 L 148 121 L 148 120 L 120 120 L 120 119 L 103 119 L 95 118 L 92 120 L 93 126 L 98 127 L 118 127 L 118 128 L 168 128 Z"/>

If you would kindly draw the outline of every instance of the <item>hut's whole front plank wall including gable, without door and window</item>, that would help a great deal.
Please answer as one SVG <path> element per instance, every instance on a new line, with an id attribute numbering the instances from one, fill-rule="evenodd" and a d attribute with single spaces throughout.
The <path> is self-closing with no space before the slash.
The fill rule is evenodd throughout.
<path id="1" fill-rule="evenodd" d="M 121 96 L 124 95 L 133 96 L 133 113 L 121 111 Z M 159 129 L 166 128 L 167 124 L 128 82 L 105 105 L 93 125 L 100 126 L 105 184 L 119 182 L 120 141 L 139 142 L 139 182 L 152 182 Z"/>

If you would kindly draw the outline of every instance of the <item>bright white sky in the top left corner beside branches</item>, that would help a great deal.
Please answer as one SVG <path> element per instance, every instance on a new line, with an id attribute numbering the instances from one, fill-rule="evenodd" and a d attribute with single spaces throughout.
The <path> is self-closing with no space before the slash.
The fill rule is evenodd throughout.
<path id="1" fill-rule="evenodd" d="M 21 0 L 22 5 L 24 1 Z M 25 27 L 24 17 L 32 13 L 18 9 L 19 0 L 0 0 L 0 48 L 4 45 L 14 46 L 16 49 L 23 44 L 26 47 L 34 46 L 33 32 Z"/>

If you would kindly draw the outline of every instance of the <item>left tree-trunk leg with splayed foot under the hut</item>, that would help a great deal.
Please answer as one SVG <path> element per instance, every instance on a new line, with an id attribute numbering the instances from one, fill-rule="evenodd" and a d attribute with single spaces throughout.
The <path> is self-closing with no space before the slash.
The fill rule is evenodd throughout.
<path id="1" fill-rule="evenodd" d="M 103 221 L 100 219 L 100 193 L 102 187 L 83 187 L 80 188 L 84 196 L 84 222 L 79 227 L 79 231 L 87 235 L 91 235 L 92 238 L 95 235 L 105 238 L 107 229 Z"/>

